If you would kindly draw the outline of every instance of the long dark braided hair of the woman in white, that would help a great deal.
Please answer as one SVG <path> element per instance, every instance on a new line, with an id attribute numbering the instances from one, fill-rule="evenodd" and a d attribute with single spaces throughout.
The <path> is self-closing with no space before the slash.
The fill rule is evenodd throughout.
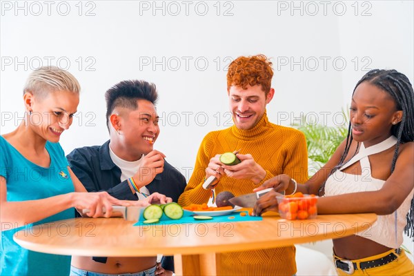
<path id="1" fill-rule="evenodd" d="M 395 163 L 397 162 L 398 150 L 400 149 L 400 144 L 404 144 L 409 141 L 414 141 L 414 92 L 413 85 L 410 83 L 408 78 L 396 70 L 380 70 L 374 69 L 366 73 L 362 79 L 360 79 L 355 86 L 353 93 L 362 82 L 367 81 L 373 86 L 377 86 L 381 90 L 387 92 L 395 101 L 395 106 L 397 110 L 402 110 L 402 120 L 391 127 L 391 133 L 397 137 L 397 144 L 395 145 L 395 151 L 393 156 L 393 161 L 391 163 L 391 173 L 395 169 Z M 341 159 L 337 166 L 335 166 L 329 175 L 341 168 L 346 162 L 345 157 L 348 155 L 349 148 L 351 147 L 351 142 L 353 141 L 352 132 L 351 132 L 351 121 L 348 126 L 348 135 L 346 136 L 346 145 L 344 153 L 342 154 Z M 354 154 L 356 154 L 359 148 L 359 143 L 357 144 L 357 149 Z M 347 160 L 348 161 L 348 160 Z M 326 183 L 326 182 L 325 182 Z M 319 195 L 324 195 L 325 183 L 322 184 L 319 188 Z M 407 225 L 404 228 L 404 232 L 408 234 L 409 237 L 414 238 L 414 198 L 411 199 L 411 208 L 407 214 Z"/>

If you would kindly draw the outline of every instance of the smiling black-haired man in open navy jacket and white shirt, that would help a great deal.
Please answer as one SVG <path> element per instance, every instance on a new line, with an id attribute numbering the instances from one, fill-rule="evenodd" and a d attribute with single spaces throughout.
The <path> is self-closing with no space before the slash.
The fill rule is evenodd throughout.
<path id="1" fill-rule="evenodd" d="M 139 200 L 154 192 L 177 202 L 186 179 L 153 146 L 159 135 L 155 84 L 121 81 L 106 92 L 110 140 L 102 146 L 77 148 L 67 156 L 75 175 L 89 192 L 105 190 L 118 199 Z M 155 269 L 156 257 L 72 257 L 72 274 L 168 275 L 171 257 Z M 145 274 L 146 273 L 146 274 Z M 164 274 L 165 273 L 165 274 Z M 133 274 L 135 275 L 135 274 Z"/>

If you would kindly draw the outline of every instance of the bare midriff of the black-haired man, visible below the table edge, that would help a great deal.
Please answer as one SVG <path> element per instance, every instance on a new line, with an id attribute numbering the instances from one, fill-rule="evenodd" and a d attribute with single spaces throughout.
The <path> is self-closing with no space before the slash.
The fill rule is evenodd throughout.
<path id="1" fill-rule="evenodd" d="M 105 274 L 137 273 L 157 264 L 157 257 L 108 257 L 106 264 L 92 257 L 72 256 L 72 266 Z"/>

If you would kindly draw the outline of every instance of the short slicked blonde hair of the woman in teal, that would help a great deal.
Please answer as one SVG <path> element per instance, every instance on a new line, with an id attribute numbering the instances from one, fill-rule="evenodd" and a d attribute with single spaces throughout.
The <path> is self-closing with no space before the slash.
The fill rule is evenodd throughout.
<path id="1" fill-rule="evenodd" d="M 79 94 L 81 86 L 70 72 L 56 66 L 43 66 L 34 70 L 28 77 L 23 88 L 26 92 L 44 98 L 50 92 L 69 91 Z"/>

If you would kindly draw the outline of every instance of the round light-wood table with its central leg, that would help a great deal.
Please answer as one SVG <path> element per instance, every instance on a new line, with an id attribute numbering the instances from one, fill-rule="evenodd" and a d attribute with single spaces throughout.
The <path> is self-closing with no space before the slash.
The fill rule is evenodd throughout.
<path id="1" fill-rule="evenodd" d="M 122 218 L 77 218 L 21 230 L 14 240 L 24 248 L 58 255 L 174 255 L 177 275 L 216 275 L 215 253 L 345 237 L 366 230 L 376 219 L 375 214 L 318 215 L 296 221 L 266 216 L 263 221 L 138 227 Z"/>

